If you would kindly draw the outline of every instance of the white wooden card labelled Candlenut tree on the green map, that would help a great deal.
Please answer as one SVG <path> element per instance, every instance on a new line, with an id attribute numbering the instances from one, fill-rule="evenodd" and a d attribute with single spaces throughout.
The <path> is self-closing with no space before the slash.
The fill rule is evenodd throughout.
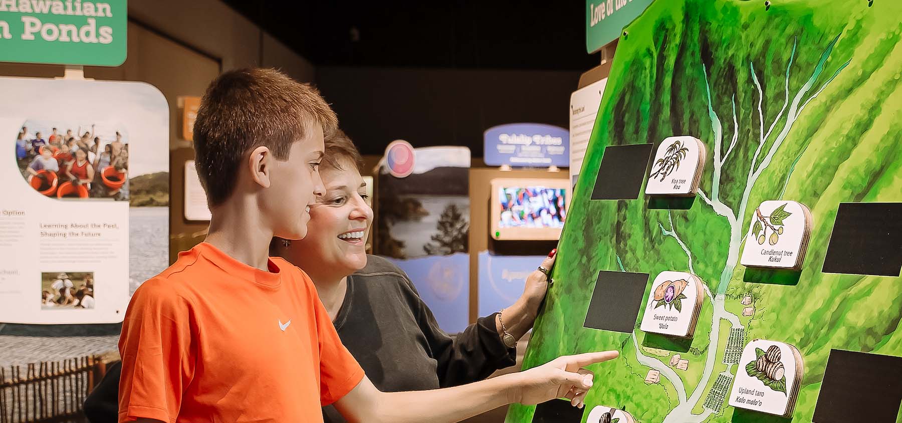
<path id="1" fill-rule="evenodd" d="M 796 201 L 765 201 L 751 216 L 741 264 L 802 269 L 811 235 L 811 212 Z"/>

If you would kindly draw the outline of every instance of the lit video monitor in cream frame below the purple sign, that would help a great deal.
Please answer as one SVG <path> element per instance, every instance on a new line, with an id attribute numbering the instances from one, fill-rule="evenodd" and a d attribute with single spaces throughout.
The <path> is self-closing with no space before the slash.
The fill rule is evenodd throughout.
<path id="1" fill-rule="evenodd" d="M 569 179 L 492 179 L 492 238 L 556 240 L 566 221 Z"/>

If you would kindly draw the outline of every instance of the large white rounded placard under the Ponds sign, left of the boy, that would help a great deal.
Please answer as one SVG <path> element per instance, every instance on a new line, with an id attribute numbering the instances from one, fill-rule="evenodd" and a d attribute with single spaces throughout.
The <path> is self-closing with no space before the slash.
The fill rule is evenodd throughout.
<path id="1" fill-rule="evenodd" d="M 166 98 L 40 78 L 0 78 L 0 92 L 0 322 L 122 321 L 169 264 Z"/>

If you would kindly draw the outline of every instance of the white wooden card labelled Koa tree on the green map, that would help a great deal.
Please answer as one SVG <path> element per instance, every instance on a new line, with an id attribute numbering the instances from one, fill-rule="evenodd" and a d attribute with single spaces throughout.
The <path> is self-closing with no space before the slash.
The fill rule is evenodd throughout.
<path id="1" fill-rule="evenodd" d="M 704 143 L 693 136 L 670 136 L 658 145 L 651 164 L 645 194 L 649 196 L 694 196 L 702 180 Z"/>

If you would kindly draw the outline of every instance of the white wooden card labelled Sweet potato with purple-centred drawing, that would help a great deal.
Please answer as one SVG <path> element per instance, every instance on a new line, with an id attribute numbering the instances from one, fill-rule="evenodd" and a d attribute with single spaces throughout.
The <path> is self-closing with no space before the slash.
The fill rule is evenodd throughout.
<path id="1" fill-rule="evenodd" d="M 651 284 L 640 328 L 643 332 L 691 337 L 704 302 L 702 280 L 685 271 L 662 271 Z"/>

